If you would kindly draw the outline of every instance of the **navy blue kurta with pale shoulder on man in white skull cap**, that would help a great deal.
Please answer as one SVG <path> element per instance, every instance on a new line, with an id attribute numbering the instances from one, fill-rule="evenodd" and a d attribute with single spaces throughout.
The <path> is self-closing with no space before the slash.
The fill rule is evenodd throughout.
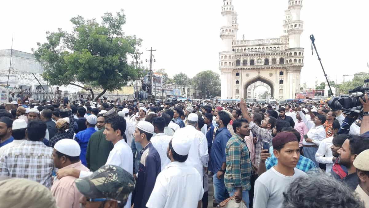
<path id="1" fill-rule="evenodd" d="M 141 150 L 141 160 L 134 193 L 134 208 L 146 207 L 146 203 L 154 189 L 156 177 L 160 171 L 161 160 L 159 153 L 150 142 Z"/>

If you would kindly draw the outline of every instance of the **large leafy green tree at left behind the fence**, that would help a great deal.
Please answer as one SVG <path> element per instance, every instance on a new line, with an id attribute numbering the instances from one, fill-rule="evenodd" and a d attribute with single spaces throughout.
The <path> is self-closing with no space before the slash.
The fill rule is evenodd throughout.
<path id="1" fill-rule="evenodd" d="M 42 77 L 51 85 L 75 85 L 94 94 L 87 86 L 98 86 L 103 91 L 120 89 L 139 76 L 139 69 L 128 64 L 141 39 L 125 36 L 124 10 L 115 16 L 104 13 L 101 23 L 96 19 L 77 16 L 71 18 L 74 25 L 68 33 L 58 28 L 57 32 L 46 32 L 47 42 L 37 43 L 33 49 L 36 59 L 44 66 Z M 82 86 L 81 84 L 85 85 Z"/>

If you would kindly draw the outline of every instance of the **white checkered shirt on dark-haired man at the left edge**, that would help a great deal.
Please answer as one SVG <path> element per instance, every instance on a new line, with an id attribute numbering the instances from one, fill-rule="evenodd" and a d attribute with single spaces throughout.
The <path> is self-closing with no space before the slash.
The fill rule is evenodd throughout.
<path id="1" fill-rule="evenodd" d="M 0 157 L 0 175 L 26 178 L 51 187 L 54 170 L 53 149 L 42 141 L 24 141 Z"/>

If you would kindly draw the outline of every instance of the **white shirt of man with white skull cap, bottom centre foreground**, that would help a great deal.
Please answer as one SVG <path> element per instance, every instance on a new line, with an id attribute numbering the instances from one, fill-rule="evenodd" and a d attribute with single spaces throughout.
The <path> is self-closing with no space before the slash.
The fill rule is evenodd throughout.
<path id="1" fill-rule="evenodd" d="M 156 178 L 154 190 L 146 207 L 197 207 L 197 203 L 204 195 L 201 178 L 196 169 L 187 164 L 187 161 L 169 163 Z"/>

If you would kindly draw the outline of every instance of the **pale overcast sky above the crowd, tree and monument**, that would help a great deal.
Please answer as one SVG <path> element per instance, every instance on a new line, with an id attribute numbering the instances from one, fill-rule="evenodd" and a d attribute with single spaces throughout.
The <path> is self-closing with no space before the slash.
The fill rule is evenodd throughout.
<path id="1" fill-rule="evenodd" d="M 53 3 L 56 2 L 56 3 Z M 284 10 L 288 0 L 233 0 L 238 13 L 238 39 L 277 38 L 283 35 Z M 218 69 L 221 48 L 222 0 L 120 0 L 120 1 L 3 1 L 0 7 L 0 49 L 31 52 L 36 42 L 46 41 L 45 31 L 61 27 L 70 30 L 70 18 L 81 15 L 101 20 L 104 12 L 125 10 L 127 35 L 142 38 L 141 59 L 149 59 L 153 47 L 153 69 L 165 68 L 169 76 L 184 72 L 193 77 L 199 71 Z M 333 81 L 343 75 L 368 72 L 369 1 L 304 0 L 301 20 L 305 48 L 301 85 L 314 86 L 324 74 L 314 52 L 311 56 L 310 34 L 315 36 L 326 73 Z M 352 77 L 351 77 L 352 78 Z M 346 80 L 349 77 L 345 78 Z"/>

